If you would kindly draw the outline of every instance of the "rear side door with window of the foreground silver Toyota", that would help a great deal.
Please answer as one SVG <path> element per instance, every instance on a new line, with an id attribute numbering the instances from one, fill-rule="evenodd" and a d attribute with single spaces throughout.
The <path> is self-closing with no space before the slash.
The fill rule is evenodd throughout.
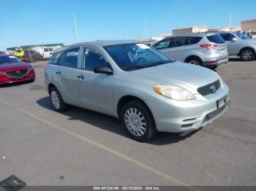
<path id="1" fill-rule="evenodd" d="M 61 56 L 60 66 L 54 71 L 59 89 L 67 104 L 80 105 L 78 94 L 78 63 L 80 47 L 65 50 Z"/>

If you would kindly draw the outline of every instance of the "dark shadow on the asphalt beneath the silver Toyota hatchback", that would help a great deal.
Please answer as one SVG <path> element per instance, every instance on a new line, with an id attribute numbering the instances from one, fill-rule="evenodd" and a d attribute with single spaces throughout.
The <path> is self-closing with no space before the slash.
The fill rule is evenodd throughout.
<path id="1" fill-rule="evenodd" d="M 54 110 L 53 106 L 50 104 L 50 98 L 40 98 L 37 101 L 39 106 L 42 106 L 45 109 Z M 108 130 L 112 133 L 116 133 L 118 136 L 124 136 L 126 138 L 131 138 L 129 134 L 124 129 L 123 125 L 121 125 L 120 120 L 116 119 L 115 117 L 108 116 L 106 114 L 101 114 L 98 112 L 93 112 L 88 109 L 83 109 L 77 106 L 70 106 L 70 109 L 67 112 L 63 112 L 68 117 L 68 120 L 79 120 L 81 122 L 89 123 L 97 128 L 101 128 L 104 130 Z M 184 133 L 165 133 L 159 132 L 154 139 L 150 141 L 146 141 L 146 144 L 154 144 L 154 145 L 166 145 L 166 144 L 173 144 L 179 141 L 183 141 L 184 139 L 189 138 L 197 130 L 191 132 L 184 132 Z"/>

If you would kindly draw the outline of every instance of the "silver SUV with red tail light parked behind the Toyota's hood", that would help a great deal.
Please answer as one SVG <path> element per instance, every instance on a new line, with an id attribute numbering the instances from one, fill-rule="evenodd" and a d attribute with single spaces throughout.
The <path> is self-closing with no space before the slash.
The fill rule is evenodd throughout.
<path id="1" fill-rule="evenodd" d="M 228 61 L 226 44 L 219 34 L 169 36 L 154 47 L 177 61 L 206 66 L 210 69 L 216 69 L 217 66 Z"/>

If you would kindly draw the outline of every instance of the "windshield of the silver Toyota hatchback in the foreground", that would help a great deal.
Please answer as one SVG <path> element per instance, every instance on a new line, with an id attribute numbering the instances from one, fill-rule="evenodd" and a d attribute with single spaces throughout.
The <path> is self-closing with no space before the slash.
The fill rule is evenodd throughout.
<path id="1" fill-rule="evenodd" d="M 104 48 L 118 67 L 124 71 L 173 62 L 167 55 L 142 43 L 116 44 L 105 46 Z"/>

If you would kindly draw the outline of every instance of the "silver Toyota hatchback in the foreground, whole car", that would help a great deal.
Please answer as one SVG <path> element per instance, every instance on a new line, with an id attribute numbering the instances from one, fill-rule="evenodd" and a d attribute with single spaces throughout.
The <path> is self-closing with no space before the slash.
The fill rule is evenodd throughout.
<path id="1" fill-rule="evenodd" d="M 45 85 L 57 112 L 75 105 L 118 117 L 138 141 L 157 131 L 203 128 L 230 103 L 229 89 L 214 71 L 135 41 L 62 47 L 50 58 Z"/>

